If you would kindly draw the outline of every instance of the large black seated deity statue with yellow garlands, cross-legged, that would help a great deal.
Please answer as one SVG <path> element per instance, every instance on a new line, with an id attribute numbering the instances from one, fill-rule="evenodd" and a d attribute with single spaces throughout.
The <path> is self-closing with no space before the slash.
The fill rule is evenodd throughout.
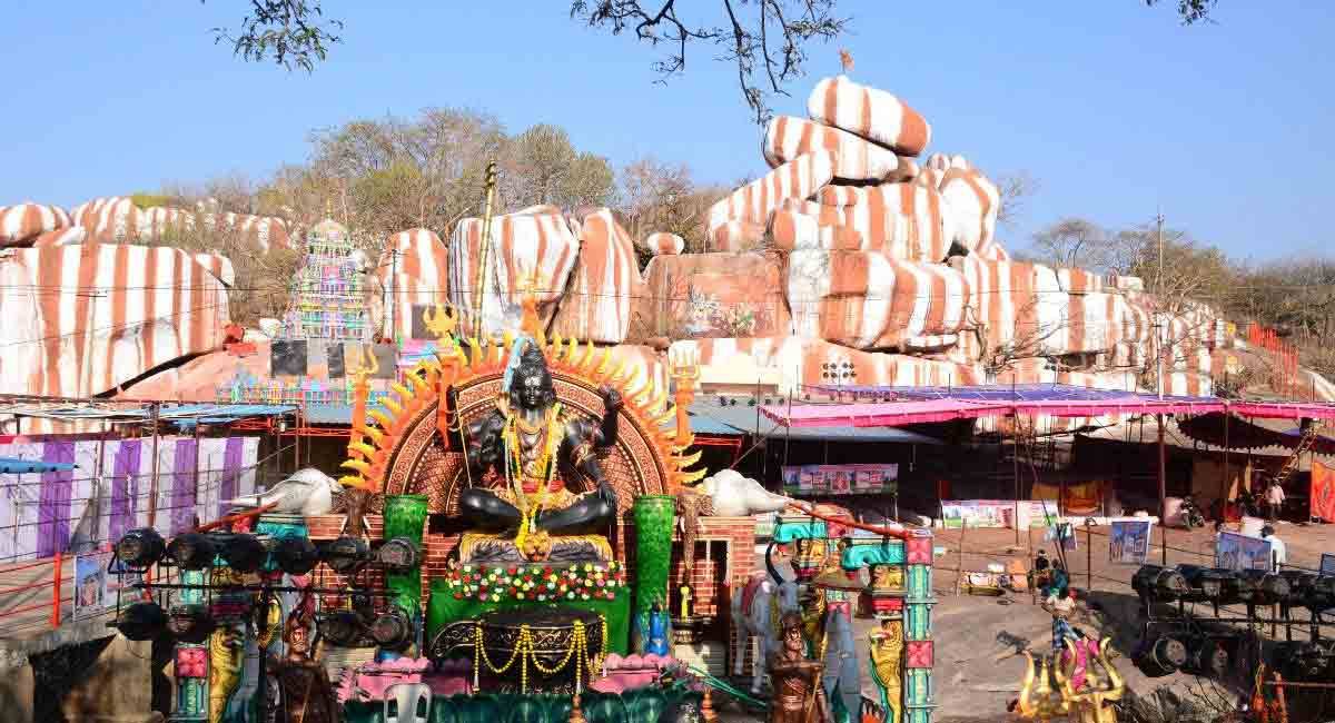
<path id="1" fill-rule="evenodd" d="M 497 408 L 467 428 L 471 476 L 490 488 L 465 490 L 461 514 L 483 531 L 517 528 L 521 550 L 529 536 L 541 547 L 549 534 L 603 532 L 615 516 L 617 495 L 597 451 L 617 443 L 619 392 L 601 390 L 598 423 L 569 412 L 557 402 L 542 349 L 527 337 L 515 341 L 502 390 Z M 586 478 L 594 491 L 571 492 L 566 475 Z"/>

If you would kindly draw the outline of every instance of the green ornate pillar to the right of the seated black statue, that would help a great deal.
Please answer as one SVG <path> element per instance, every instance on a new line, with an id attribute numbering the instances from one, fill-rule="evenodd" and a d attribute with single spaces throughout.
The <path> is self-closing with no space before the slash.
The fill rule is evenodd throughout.
<path id="1" fill-rule="evenodd" d="M 676 515 L 672 495 L 643 495 L 635 498 L 635 602 L 631 622 L 631 647 L 645 655 L 649 646 L 662 636 L 662 644 L 672 640 L 668 630 L 668 574 L 672 568 L 672 532 Z M 650 624 L 650 612 L 658 606 L 661 615 Z"/>

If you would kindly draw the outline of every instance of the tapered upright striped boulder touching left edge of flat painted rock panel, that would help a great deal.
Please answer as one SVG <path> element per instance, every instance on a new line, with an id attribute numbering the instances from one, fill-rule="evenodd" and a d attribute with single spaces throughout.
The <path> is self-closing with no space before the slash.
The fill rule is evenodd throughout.
<path id="1" fill-rule="evenodd" d="M 635 244 L 611 211 L 579 220 L 579 257 L 551 320 L 551 332 L 601 344 L 621 344 L 630 331 L 634 297 L 642 292 Z"/>

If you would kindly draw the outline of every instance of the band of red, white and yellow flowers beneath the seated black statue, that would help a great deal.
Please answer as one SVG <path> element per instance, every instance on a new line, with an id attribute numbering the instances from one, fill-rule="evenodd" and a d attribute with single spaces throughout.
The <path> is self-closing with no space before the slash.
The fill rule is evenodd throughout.
<path id="1" fill-rule="evenodd" d="M 447 571 L 445 583 L 455 600 L 615 600 L 626 587 L 626 570 L 617 562 L 570 567 L 466 564 Z"/>

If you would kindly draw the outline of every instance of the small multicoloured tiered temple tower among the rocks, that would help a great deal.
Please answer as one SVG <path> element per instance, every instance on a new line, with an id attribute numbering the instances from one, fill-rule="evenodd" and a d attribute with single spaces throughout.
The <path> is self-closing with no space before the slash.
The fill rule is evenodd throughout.
<path id="1" fill-rule="evenodd" d="M 306 261 L 292 280 L 292 307 L 283 319 L 286 339 L 370 341 L 362 256 L 347 228 L 324 219 L 306 233 Z"/>

